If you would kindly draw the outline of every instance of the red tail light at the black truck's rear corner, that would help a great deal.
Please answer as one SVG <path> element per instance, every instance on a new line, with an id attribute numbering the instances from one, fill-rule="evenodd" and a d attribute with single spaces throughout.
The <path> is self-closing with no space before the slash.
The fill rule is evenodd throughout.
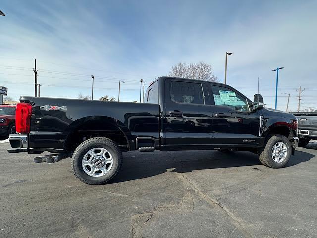
<path id="1" fill-rule="evenodd" d="M 32 105 L 18 103 L 15 112 L 15 130 L 17 133 L 27 134 L 30 132 Z"/>

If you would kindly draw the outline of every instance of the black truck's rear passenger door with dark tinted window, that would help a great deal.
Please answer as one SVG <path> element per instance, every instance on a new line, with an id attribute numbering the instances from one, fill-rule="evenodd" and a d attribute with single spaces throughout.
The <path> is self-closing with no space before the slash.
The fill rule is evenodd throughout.
<path id="1" fill-rule="evenodd" d="M 167 78 L 164 87 L 163 145 L 210 149 L 212 117 L 207 83 Z"/>

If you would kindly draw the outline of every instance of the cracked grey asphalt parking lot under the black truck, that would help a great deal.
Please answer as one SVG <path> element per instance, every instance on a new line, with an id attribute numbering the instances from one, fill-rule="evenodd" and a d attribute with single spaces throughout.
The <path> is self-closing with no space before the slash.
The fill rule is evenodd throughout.
<path id="1" fill-rule="evenodd" d="M 0 237 L 317 237 L 317 143 L 286 168 L 249 152 L 124 153 L 102 186 L 70 159 L 33 162 L 0 143 Z"/>

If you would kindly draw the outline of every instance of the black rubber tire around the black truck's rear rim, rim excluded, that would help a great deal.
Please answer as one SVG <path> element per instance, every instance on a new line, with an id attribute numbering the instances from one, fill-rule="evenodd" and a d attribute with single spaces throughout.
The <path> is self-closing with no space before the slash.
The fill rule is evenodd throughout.
<path id="1" fill-rule="evenodd" d="M 100 177 L 92 177 L 85 173 L 82 167 L 82 159 L 87 151 L 93 148 L 105 148 L 108 150 L 113 158 L 113 165 L 111 170 Z M 89 184 L 89 185 L 100 185 L 105 184 L 106 182 L 113 179 L 116 174 L 119 172 L 122 165 L 122 152 L 113 140 L 110 140 L 106 137 L 94 137 L 88 140 L 85 140 L 81 143 L 75 150 L 72 155 L 72 169 L 80 181 Z"/>

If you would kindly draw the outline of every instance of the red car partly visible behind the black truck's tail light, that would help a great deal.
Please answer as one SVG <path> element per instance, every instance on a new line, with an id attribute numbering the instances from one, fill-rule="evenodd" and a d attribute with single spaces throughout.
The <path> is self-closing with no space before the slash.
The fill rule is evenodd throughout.
<path id="1" fill-rule="evenodd" d="M 0 105 L 0 135 L 15 134 L 15 105 Z"/>

